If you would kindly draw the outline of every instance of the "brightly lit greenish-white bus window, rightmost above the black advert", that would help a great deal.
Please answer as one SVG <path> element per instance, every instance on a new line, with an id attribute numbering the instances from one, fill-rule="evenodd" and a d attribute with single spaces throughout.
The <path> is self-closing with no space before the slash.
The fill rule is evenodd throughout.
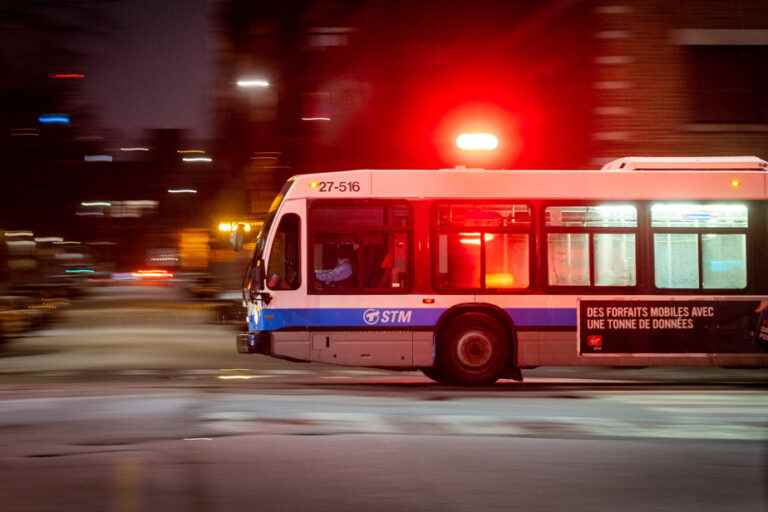
<path id="1" fill-rule="evenodd" d="M 653 204 L 656 287 L 746 288 L 748 213 L 743 204 Z"/>

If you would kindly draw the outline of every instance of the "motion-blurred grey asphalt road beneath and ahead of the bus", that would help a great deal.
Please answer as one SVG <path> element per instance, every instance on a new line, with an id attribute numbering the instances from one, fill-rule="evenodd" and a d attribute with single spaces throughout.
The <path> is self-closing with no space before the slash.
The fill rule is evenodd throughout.
<path id="1" fill-rule="evenodd" d="M 172 289 L 0 348 L 0 510 L 766 510 L 760 370 L 523 384 L 238 355 Z"/>

